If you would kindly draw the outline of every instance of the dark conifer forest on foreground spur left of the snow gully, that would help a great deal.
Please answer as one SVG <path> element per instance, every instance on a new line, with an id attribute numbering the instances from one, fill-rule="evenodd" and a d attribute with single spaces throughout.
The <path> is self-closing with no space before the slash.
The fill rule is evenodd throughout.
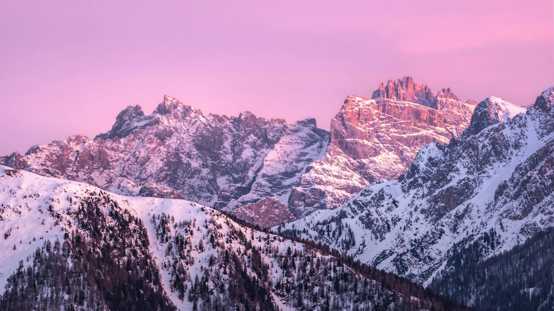
<path id="1" fill-rule="evenodd" d="M 55 240 L 37 235 L 23 241 L 20 226 L 4 228 L 4 242 L 15 243 L 9 255 L 16 257 L 18 247 L 33 245 L 35 250 L 8 276 L 0 310 L 175 310 L 152 264 L 141 219 L 103 192 L 85 192 L 81 198 L 67 196 L 65 203 L 73 209 L 57 210 L 57 200 L 46 210 L 38 209 L 42 221 L 35 227 L 50 236 L 57 232 Z M 27 202 L 22 205 L 29 209 Z M 110 208 L 104 212 L 106 206 Z M 25 217 L 9 204 L 2 204 L 2 216 L 13 209 Z"/>

